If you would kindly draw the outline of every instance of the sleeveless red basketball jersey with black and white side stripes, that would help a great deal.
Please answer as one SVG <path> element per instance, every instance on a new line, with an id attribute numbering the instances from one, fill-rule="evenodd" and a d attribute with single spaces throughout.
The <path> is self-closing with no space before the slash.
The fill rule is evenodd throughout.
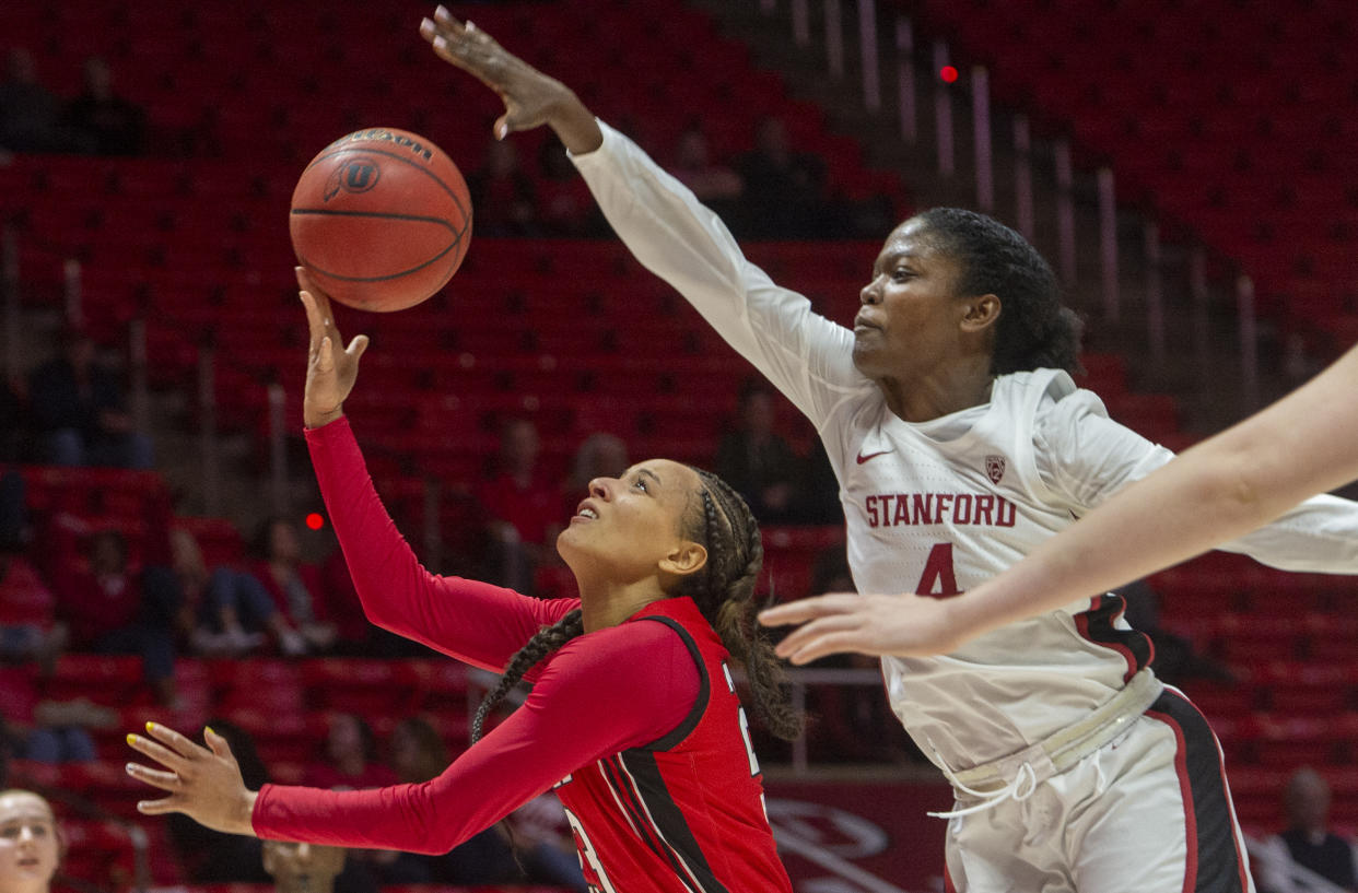
<path id="1" fill-rule="evenodd" d="M 672 628 L 698 665 L 701 687 L 674 732 L 557 786 L 591 889 L 790 892 L 721 639 L 690 598 L 652 603 L 633 619 Z"/>

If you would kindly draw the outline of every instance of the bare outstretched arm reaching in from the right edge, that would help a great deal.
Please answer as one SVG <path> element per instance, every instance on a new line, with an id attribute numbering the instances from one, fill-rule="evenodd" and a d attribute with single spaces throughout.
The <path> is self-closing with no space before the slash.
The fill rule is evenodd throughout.
<path id="1" fill-rule="evenodd" d="M 778 653 L 928 656 L 1055 611 L 1243 536 L 1301 499 L 1358 478 L 1358 347 L 1313 381 L 1181 456 L 948 600 L 832 594 L 760 615 L 800 623 Z"/>

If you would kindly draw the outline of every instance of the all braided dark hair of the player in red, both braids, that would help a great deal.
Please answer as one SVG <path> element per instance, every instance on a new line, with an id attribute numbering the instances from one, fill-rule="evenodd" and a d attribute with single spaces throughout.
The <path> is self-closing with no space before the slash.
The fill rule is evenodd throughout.
<path id="1" fill-rule="evenodd" d="M 694 600 L 721 643 L 746 668 L 755 715 L 775 736 L 790 741 L 801 734 L 803 715 L 792 706 L 782 664 L 755 620 L 759 605 L 754 592 L 763 567 L 759 522 L 731 484 L 709 471 L 694 468 L 694 472 L 702 489 L 683 520 L 684 536 L 708 550 L 708 563 L 686 575 L 674 594 Z M 471 722 L 473 744 L 481 738 L 486 717 L 524 673 L 583 631 L 584 620 L 577 608 L 539 630 L 509 658 L 500 681 L 477 708 Z"/>

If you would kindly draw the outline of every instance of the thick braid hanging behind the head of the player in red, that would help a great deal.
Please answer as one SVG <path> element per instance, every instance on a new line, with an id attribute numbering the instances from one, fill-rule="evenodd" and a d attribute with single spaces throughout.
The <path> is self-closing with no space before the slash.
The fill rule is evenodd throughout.
<path id="1" fill-rule="evenodd" d="M 746 669 L 754 711 L 779 738 L 801 734 L 803 715 L 792 706 L 788 677 L 763 627 L 755 620 L 755 585 L 763 567 L 759 522 L 746 501 L 721 478 L 694 468 L 703 483 L 702 518 L 691 522 L 694 539 L 708 548 L 708 563 L 684 578 L 689 596 L 731 656 Z"/>

